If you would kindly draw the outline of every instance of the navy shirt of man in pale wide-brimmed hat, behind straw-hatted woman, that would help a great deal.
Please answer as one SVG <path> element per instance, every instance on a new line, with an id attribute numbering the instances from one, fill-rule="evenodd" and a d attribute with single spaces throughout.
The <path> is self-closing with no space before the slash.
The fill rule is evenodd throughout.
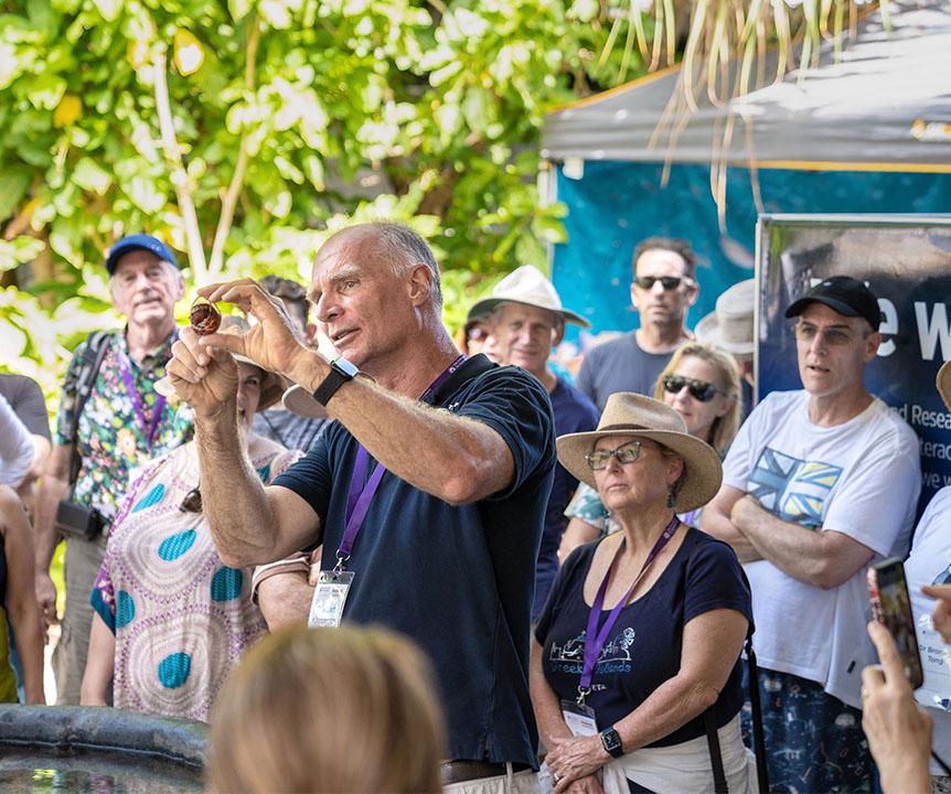
<path id="1" fill-rule="evenodd" d="M 555 436 L 587 432 L 598 426 L 599 414 L 595 404 L 562 378 L 557 379 L 555 388 L 548 396 L 552 399 L 552 412 L 555 417 Z M 538 565 L 535 569 L 533 619 L 541 614 L 548 598 L 548 590 L 558 572 L 558 546 L 562 543 L 562 533 L 568 525 L 565 507 L 570 502 L 576 487 L 578 487 L 577 478 L 569 474 L 560 463 L 555 464 L 552 495 L 545 507 L 545 529 L 542 533 Z"/>

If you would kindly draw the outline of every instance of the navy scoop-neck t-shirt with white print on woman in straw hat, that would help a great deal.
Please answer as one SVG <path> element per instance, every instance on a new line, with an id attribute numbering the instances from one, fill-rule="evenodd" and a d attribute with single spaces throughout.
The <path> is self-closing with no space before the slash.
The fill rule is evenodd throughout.
<path id="1" fill-rule="evenodd" d="M 598 543 L 581 546 L 568 557 L 535 626 L 545 678 L 563 699 L 574 700 L 578 694 L 590 610 L 584 598 L 585 578 Z M 587 698 L 599 730 L 627 717 L 677 674 L 684 625 L 716 609 L 737 610 L 751 622 L 749 584 L 729 546 L 690 528 L 658 581 L 621 610 L 601 650 Z M 599 626 L 607 615 L 605 610 Z M 714 705 L 718 728 L 742 706 L 740 677 L 737 659 Z M 649 747 L 680 744 L 704 734 L 701 715 Z"/>

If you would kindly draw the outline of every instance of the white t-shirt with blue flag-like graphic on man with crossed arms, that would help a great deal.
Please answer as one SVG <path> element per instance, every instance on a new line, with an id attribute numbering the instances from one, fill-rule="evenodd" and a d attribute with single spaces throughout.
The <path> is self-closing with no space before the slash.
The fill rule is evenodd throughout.
<path id="1" fill-rule="evenodd" d="M 724 484 L 783 521 L 848 535 L 876 558 L 904 557 L 921 489 L 915 432 L 878 398 L 836 427 L 813 425 L 808 407 L 804 390 L 768 395 L 730 447 Z M 865 569 L 823 590 L 767 560 L 744 567 L 760 665 L 822 684 L 859 708 L 862 668 L 877 661 L 865 631 Z"/>

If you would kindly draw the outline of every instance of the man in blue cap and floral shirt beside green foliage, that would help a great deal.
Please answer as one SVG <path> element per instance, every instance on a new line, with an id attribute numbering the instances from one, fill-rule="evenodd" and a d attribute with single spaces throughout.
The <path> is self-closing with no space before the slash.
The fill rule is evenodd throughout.
<path id="1" fill-rule="evenodd" d="M 106 536 L 131 471 L 178 447 L 191 422 L 152 388 L 175 340 L 173 309 L 184 283 L 169 247 L 149 235 L 124 237 L 106 259 L 122 333 L 96 332 L 76 348 L 63 384 L 53 452 L 36 504 L 36 596 L 56 622 L 50 562 L 66 538 L 66 611 L 53 654 L 60 704 L 79 702 L 92 609 L 89 593 Z"/>

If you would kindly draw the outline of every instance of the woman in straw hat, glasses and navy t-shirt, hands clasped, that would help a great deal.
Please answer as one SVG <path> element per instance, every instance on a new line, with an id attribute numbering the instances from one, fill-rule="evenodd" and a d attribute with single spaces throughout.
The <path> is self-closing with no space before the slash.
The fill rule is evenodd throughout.
<path id="1" fill-rule="evenodd" d="M 555 792 L 597 791 L 599 772 L 608 794 L 707 792 L 720 762 L 729 791 L 748 791 L 749 586 L 727 545 L 676 516 L 716 494 L 719 457 L 673 408 L 621 393 L 597 430 L 558 439 L 558 460 L 621 532 L 571 554 L 535 626 L 532 699 Z"/>

